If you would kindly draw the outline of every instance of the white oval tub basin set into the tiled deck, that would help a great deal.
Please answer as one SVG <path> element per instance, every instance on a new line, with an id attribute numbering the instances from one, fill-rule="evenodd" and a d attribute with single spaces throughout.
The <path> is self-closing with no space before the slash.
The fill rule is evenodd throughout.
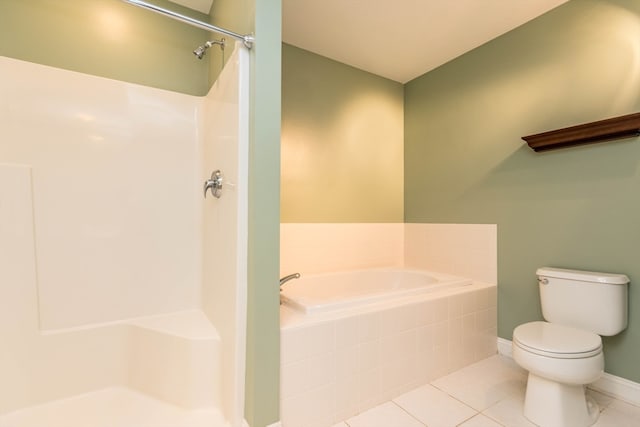
<path id="1" fill-rule="evenodd" d="M 304 275 L 283 285 L 283 304 L 306 314 L 363 307 L 471 285 L 470 279 L 420 270 L 370 269 Z"/>

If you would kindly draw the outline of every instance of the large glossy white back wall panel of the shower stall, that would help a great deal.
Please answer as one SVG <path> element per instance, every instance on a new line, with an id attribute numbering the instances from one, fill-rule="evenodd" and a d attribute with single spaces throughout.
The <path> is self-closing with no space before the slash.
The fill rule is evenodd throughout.
<path id="1" fill-rule="evenodd" d="M 199 305 L 201 99 L 0 57 L 0 163 L 33 173 L 44 330 Z"/>

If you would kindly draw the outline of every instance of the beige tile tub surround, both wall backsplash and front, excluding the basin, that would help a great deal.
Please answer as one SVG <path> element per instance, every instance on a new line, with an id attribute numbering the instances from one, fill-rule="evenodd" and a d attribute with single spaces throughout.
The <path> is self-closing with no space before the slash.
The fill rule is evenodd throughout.
<path id="1" fill-rule="evenodd" d="M 281 224 L 281 275 L 407 267 L 473 285 L 337 315 L 281 309 L 281 419 L 322 427 L 496 353 L 492 224 Z"/>

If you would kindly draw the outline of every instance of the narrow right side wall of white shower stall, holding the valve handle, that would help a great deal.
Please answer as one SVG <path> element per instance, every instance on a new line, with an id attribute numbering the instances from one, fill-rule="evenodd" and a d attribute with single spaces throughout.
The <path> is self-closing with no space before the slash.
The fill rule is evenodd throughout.
<path id="1" fill-rule="evenodd" d="M 222 342 L 222 407 L 232 425 L 244 419 L 244 366 L 248 244 L 249 52 L 234 53 L 205 98 L 204 175 L 220 170 L 222 192 L 209 192 L 203 209 L 205 313 Z"/>

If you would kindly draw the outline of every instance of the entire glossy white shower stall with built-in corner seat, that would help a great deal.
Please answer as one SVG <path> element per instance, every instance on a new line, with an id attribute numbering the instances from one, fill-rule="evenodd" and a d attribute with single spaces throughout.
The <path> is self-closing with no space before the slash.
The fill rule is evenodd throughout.
<path id="1" fill-rule="evenodd" d="M 0 427 L 242 425 L 248 67 L 195 97 L 0 57 Z"/>

